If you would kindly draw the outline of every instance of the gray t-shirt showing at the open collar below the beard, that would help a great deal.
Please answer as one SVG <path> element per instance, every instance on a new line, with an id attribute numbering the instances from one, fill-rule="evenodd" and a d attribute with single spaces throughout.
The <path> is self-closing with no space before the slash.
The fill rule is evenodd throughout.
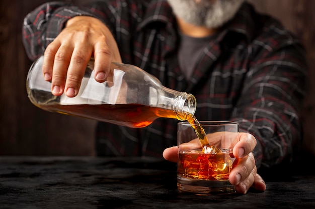
<path id="1" fill-rule="evenodd" d="M 193 74 L 200 53 L 208 46 L 213 36 L 195 38 L 180 34 L 180 46 L 178 51 L 179 66 L 188 81 Z"/>

